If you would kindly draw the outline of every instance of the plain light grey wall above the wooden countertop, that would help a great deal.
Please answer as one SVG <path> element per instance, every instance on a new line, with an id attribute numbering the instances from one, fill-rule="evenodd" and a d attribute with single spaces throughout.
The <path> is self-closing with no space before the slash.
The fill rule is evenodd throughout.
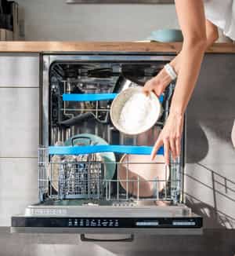
<path id="1" fill-rule="evenodd" d="M 178 27 L 174 5 L 66 5 L 65 0 L 17 0 L 26 40 L 132 41 Z"/>

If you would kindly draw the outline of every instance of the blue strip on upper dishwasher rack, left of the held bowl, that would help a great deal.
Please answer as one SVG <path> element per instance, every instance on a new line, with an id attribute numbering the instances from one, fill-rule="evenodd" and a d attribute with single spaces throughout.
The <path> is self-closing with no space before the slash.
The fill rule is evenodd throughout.
<path id="1" fill-rule="evenodd" d="M 63 101 L 108 101 L 115 97 L 117 93 L 63 93 Z"/>

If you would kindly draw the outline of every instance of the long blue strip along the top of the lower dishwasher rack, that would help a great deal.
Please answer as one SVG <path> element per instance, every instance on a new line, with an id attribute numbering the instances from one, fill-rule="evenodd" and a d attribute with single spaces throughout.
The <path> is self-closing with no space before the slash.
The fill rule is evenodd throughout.
<path id="1" fill-rule="evenodd" d="M 149 146 L 128 146 L 128 145 L 90 145 L 90 146 L 51 146 L 49 155 L 85 155 L 102 152 L 115 152 L 132 155 L 150 155 L 153 147 Z M 157 155 L 164 155 L 164 149 L 161 147 Z"/>

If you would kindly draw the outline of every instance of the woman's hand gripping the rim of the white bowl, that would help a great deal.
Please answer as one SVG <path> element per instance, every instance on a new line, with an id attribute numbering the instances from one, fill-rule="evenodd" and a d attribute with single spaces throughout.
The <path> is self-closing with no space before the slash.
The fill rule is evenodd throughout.
<path id="1" fill-rule="evenodd" d="M 157 97 L 160 97 L 170 82 L 172 82 L 172 78 L 163 68 L 154 78 L 146 82 L 143 86 L 143 92 L 146 94 L 153 92 Z"/>

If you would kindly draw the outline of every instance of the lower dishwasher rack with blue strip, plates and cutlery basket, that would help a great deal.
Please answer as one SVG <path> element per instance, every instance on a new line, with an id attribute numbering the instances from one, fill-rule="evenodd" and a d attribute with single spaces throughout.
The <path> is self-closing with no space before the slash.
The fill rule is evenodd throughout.
<path id="1" fill-rule="evenodd" d="M 169 166 L 164 163 L 132 163 L 129 155 L 148 155 L 152 147 L 129 145 L 89 145 L 89 146 L 52 146 L 38 149 L 38 191 L 41 202 L 48 199 L 83 199 L 89 201 L 130 202 L 130 201 L 169 201 L 179 203 L 182 199 L 182 163 L 181 159 L 173 161 Z M 117 159 L 127 155 L 125 162 L 115 163 L 115 174 L 109 177 L 107 162 L 101 157 L 102 152 L 114 152 Z M 163 155 L 163 148 L 157 155 Z M 129 166 L 143 164 L 161 164 L 164 166 L 165 178 L 154 177 L 151 180 L 132 178 Z M 123 169 L 124 168 L 124 169 Z M 120 171 L 125 175 L 120 178 Z M 147 171 L 147 170 L 146 170 Z M 122 185 L 121 185 L 122 184 Z M 123 188 L 125 184 L 125 189 Z M 151 187 L 152 193 L 141 196 L 145 185 Z M 159 189 L 163 187 L 162 189 Z M 136 192 L 132 192 L 132 188 Z"/>

